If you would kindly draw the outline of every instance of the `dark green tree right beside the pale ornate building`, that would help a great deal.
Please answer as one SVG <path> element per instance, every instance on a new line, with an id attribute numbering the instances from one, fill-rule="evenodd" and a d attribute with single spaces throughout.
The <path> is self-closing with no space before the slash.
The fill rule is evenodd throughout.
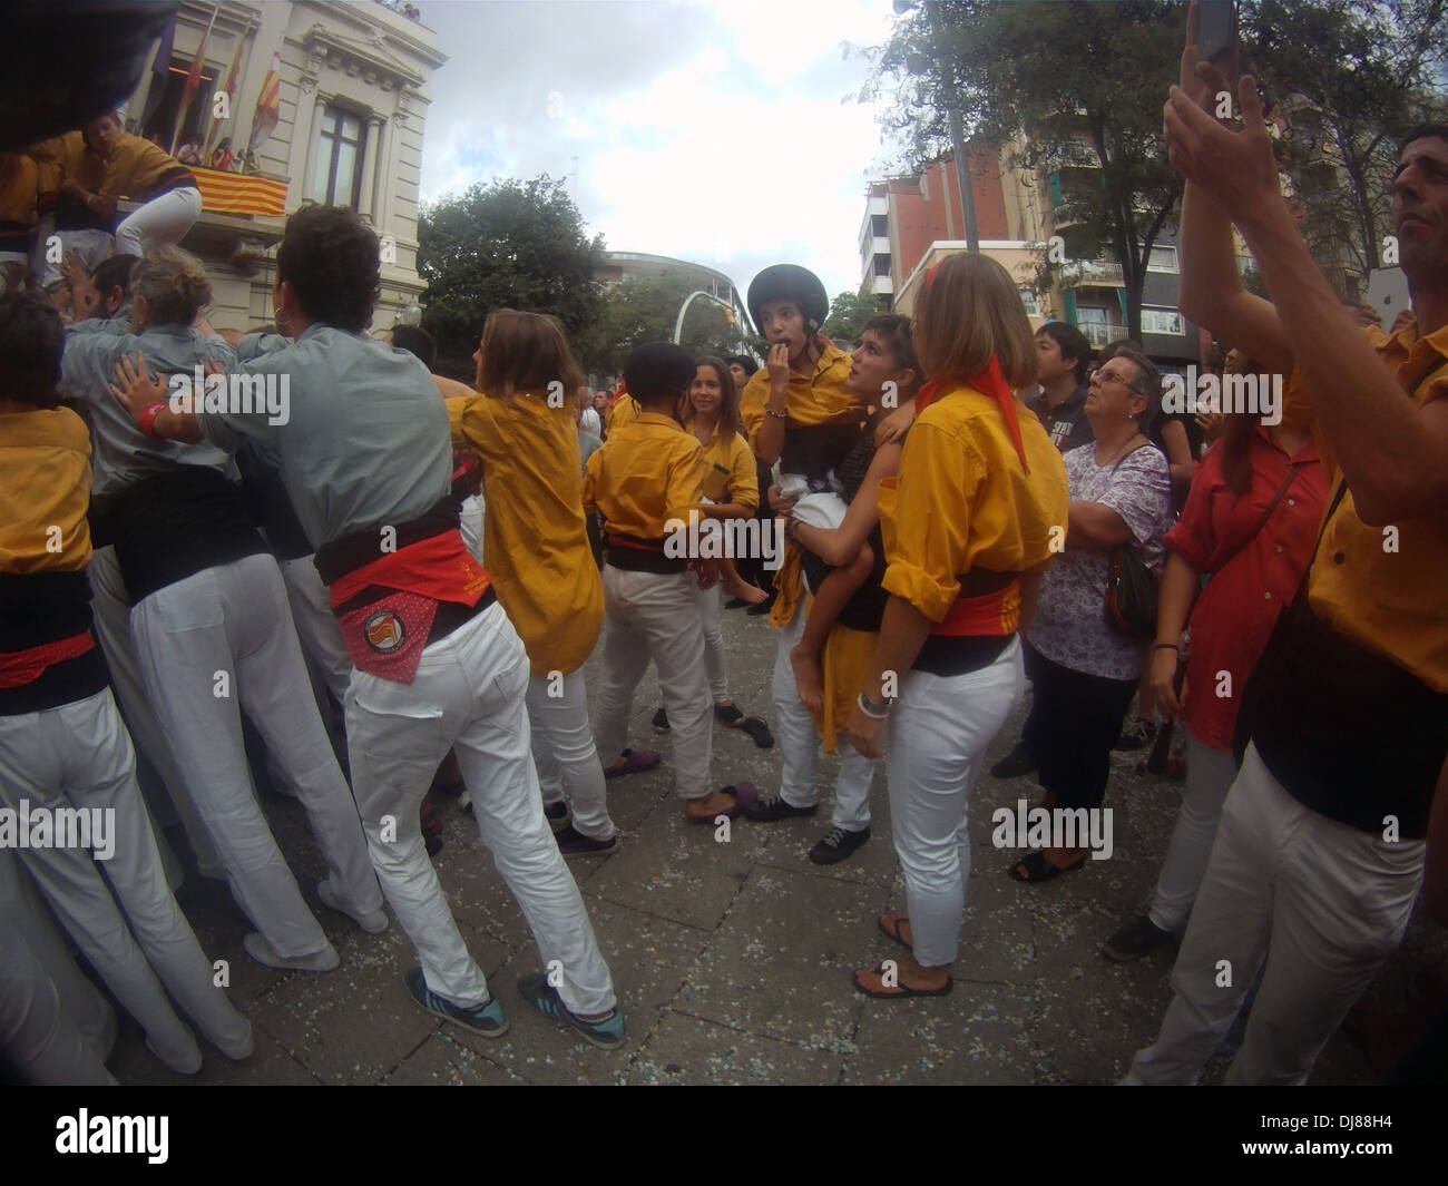
<path id="1" fill-rule="evenodd" d="M 427 282 L 423 326 L 445 374 L 472 374 L 469 356 L 497 308 L 550 313 L 571 337 L 598 317 L 602 236 L 588 237 L 563 182 L 547 174 L 473 185 L 426 206 L 417 245 Z"/>

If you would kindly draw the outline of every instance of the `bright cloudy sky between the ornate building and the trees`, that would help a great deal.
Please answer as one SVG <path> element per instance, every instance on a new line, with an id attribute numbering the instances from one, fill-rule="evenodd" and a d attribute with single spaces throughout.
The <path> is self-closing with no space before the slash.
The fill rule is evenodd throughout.
<path id="1" fill-rule="evenodd" d="M 778 261 L 831 297 L 859 288 L 864 185 L 891 152 L 853 100 L 869 67 L 843 43 L 882 43 L 889 0 L 414 3 L 449 55 L 424 200 L 566 175 L 613 251 L 694 259 L 740 288 Z"/>

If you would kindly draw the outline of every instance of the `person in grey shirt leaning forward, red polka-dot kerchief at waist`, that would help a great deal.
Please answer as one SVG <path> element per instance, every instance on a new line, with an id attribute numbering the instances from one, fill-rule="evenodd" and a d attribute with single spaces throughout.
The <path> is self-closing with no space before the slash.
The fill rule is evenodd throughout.
<path id="1" fill-rule="evenodd" d="M 129 366 L 117 372 L 123 400 L 161 436 L 204 437 L 226 449 L 252 442 L 274 459 L 297 517 L 329 558 L 327 566 L 343 553 L 366 556 L 334 572 L 334 610 L 372 597 L 342 595 L 339 582 L 353 586 L 365 581 L 385 591 L 391 578 L 414 602 L 432 601 L 436 617 L 418 614 L 414 624 L 460 617 L 446 633 L 423 626 L 426 646 L 413 655 L 408 682 L 387 666 L 408 637 L 417 646 L 408 633 L 416 626 L 403 628 L 410 610 L 397 597 L 388 594 L 366 605 L 372 610 L 391 602 L 397 608 L 376 608 L 365 637 L 349 639 L 352 788 L 382 891 L 421 957 L 404 985 L 418 1006 L 481 1037 L 500 1037 L 508 1028 L 501 1002 L 489 992 L 447 908 L 417 823 L 433 772 L 452 747 L 484 841 L 549 966 L 549 975 L 520 979 L 521 995 L 595 1046 L 617 1047 L 624 1024 L 613 977 L 543 815 L 529 750 L 523 643 L 491 591 L 482 600 L 473 592 L 475 601 L 463 605 L 462 586 L 452 594 L 446 584 L 471 563 L 456 511 L 446 530 L 429 527 L 421 539 L 404 543 L 404 529 L 421 531 L 420 521 L 434 523 L 442 514 L 439 504 L 452 476 L 452 434 L 427 368 L 365 336 L 378 293 L 376 236 L 350 210 L 303 209 L 287 223 L 277 249 L 274 294 L 278 327 L 295 340 L 237 366 L 243 375 L 290 378 L 290 419 L 272 423 L 255 413 L 156 410 L 153 401 L 162 388 Z M 395 552 L 388 546 L 388 529 Z M 426 550 L 417 549 L 418 543 Z M 432 595 L 390 568 L 388 556 L 410 549 L 417 549 L 411 555 L 420 558 L 421 568 L 430 555 L 447 556 L 446 565 L 429 573 L 429 588 L 437 589 Z M 321 562 L 319 556 L 319 568 Z M 343 626 L 346 633 L 346 621 Z"/>

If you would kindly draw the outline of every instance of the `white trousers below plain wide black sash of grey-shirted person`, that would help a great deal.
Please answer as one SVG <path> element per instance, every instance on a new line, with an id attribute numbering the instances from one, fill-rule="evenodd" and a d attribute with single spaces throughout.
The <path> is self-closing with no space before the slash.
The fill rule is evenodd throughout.
<path id="1" fill-rule="evenodd" d="M 156 589 L 132 608 L 130 633 L 151 704 L 237 904 L 282 956 L 323 951 L 327 937 L 258 807 L 242 710 L 307 809 L 339 902 L 368 914 L 382 895 L 307 681 L 277 560 L 245 556 Z"/>

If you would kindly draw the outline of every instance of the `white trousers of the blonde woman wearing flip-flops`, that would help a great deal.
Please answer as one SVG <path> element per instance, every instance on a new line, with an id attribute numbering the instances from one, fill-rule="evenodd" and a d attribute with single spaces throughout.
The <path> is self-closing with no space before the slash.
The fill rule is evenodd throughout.
<path id="1" fill-rule="evenodd" d="M 901 681 L 885 727 L 885 772 L 915 959 L 925 967 L 956 962 L 970 878 L 970 788 L 1024 689 L 1019 639 L 980 670 L 909 672 Z"/>

